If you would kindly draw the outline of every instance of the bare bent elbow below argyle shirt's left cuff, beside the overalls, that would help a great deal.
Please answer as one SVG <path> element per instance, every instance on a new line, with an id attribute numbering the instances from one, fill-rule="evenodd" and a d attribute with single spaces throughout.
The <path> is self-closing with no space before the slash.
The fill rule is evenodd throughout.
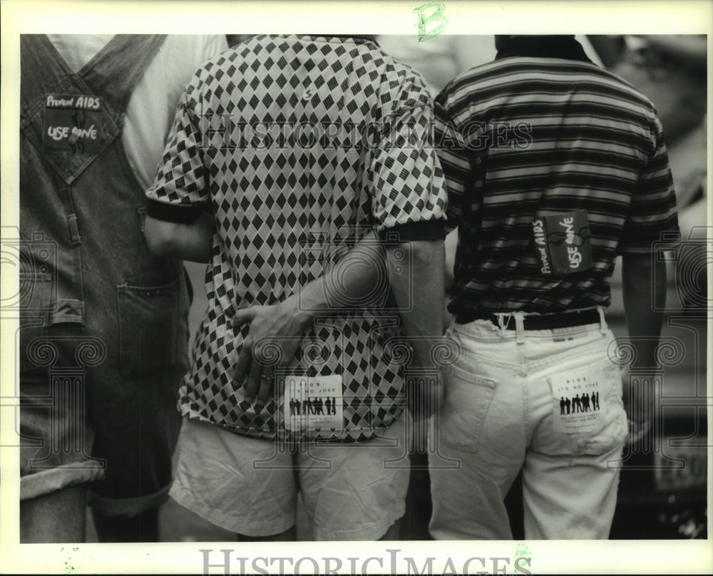
<path id="1" fill-rule="evenodd" d="M 208 262 L 212 251 L 215 220 L 201 212 L 190 224 L 146 217 L 144 235 L 149 250 L 156 256 L 170 256 L 191 262 Z"/>

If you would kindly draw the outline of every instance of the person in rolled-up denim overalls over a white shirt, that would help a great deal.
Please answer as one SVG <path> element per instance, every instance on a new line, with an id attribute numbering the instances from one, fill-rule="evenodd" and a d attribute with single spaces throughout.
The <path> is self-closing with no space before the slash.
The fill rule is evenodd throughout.
<path id="1" fill-rule="evenodd" d="M 21 448 L 21 542 L 83 542 L 87 503 L 102 542 L 158 540 L 189 294 L 181 263 L 148 251 L 143 189 L 185 84 L 225 48 L 225 36 L 21 36 L 20 232 L 33 289 L 20 428 L 43 441 Z M 77 370 L 82 383 L 47 406 L 56 376 Z"/>

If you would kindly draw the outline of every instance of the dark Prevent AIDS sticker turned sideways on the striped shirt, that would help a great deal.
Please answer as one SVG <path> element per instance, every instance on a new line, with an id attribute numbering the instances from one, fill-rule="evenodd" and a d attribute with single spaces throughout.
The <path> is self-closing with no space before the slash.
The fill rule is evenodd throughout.
<path id="1" fill-rule="evenodd" d="M 592 245 L 586 210 L 541 216 L 533 222 L 540 273 L 562 275 L 592 267 Z"/>

